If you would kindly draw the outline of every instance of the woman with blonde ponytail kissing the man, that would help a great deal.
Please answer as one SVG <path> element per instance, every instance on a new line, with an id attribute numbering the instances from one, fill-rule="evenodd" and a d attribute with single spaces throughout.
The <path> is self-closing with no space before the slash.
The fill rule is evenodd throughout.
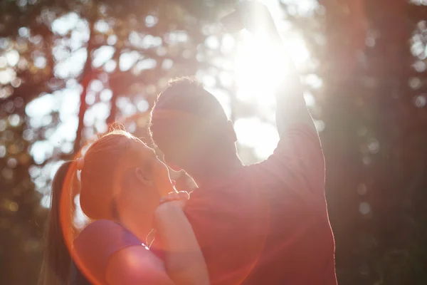
<path id="1" fill-rule="evenodd" d="M 75 276 L 81 279 L 81 274 L 73 274 L 66 246 L 73 228 L 71 222 L 64 222 L 64 207 L 60 207 L 78 182 L 77 170 L 80 205 L 95 222 L 70 243 L 71 252 L 78 269 L 92 284 L 209 284 L 183 202 L 159 205 L 162 197 L 176 193 L 167 166 L 154 150 L 121 130 L 99 138 L 85 157 L 65 162 L 58 169 L 53 179 L 41 284 L 87 282 L 76 281 Z M 162 250 L 150 251 L 142 243 L 153 227 Z"/>

